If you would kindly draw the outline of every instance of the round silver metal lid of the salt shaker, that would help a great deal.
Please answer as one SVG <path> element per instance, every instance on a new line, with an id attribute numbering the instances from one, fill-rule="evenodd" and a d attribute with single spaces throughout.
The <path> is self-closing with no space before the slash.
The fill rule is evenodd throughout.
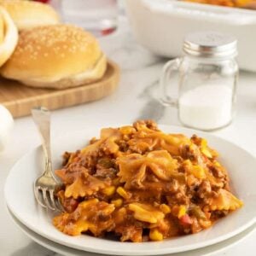
<path id="1" fill-rule="evenodd" d="M 221 32 L 193 32 L 187 35 L 183 51 L 205 58 L 227 58 L 237 55 L 237 40 Z"/>

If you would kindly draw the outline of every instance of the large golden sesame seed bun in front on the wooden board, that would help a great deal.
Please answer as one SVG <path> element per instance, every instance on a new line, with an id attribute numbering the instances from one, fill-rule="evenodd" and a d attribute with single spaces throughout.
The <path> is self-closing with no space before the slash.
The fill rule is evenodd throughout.
<path id="1" fill-rule="evenodd" d="M 40 26 L 20 32 L 0 73 L 33 87 L 62 89 L 101 79 L 106 63 L 96 38 L 82 28 Z"/>

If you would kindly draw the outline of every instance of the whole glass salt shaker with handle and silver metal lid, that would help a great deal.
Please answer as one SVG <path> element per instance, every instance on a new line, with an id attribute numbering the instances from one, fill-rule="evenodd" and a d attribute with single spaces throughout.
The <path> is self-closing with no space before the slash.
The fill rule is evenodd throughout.
<path id="1" fill-rule="evenodd" d="M 166 63 L 160 79 L 161 102 L 178 109 L 180 122 L 212 131 L 234 115 L 238 66 L 236 38 L 220 32 L 194 32 L 183 42 L 183 57 Z M 170 96 L 178 73 L 177 97 Z"/>

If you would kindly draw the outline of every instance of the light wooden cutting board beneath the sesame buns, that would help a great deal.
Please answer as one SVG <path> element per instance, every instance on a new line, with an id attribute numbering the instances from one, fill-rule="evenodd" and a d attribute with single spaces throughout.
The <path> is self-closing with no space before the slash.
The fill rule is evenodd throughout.
<path id="1" fill-rule="evenodd" d="M 21 117 L 38 106 L 58 109 L 99 100 L 110 95 L 118 84 L 119 67 L 113 61 L 108 61 L 107 71 L 100 81 L 64 90 L 32 88 L 14 80 L 0 79 L 0 104 L 14 117 Z"/>

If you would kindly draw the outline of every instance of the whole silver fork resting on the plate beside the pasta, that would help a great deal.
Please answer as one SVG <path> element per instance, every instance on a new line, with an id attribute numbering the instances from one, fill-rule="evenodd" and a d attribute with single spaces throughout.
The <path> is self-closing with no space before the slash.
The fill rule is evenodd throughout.
<path id="1" fill-rule="evenodd" d="M 44 148 L 45 167 L 44 173 L 34 183 L 34 195 L 38 204 L 42 207 L 49 208 L 52 211 L 61 211 L 61 202 L 55 197 L 55 192 L 60 189 L 59 183 L 53 173 L 50 153 L 50 112 L 47 108 L 32 108 L 32 118 L 38 126 L 38 131 L 42 137 Z"/>

